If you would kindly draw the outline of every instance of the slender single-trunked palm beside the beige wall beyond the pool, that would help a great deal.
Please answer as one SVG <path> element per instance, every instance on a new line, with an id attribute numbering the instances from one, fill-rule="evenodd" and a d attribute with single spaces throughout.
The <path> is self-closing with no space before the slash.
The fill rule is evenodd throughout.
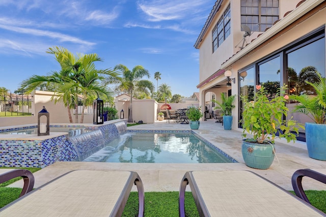
<path id="1" fill-rule="evenodd" d="M 147 76 L 148 78 L 150 78 L 150 74 L 148 72 L 148 70 L 144 69 L 144 67 L 142 66 L 135 66 L 131 71 L 124 65 L 119 64 L 117 66 L 115 66 L 114 70 L 118 70 L 122 72 L 123 75 L 123 80 L 117 80 L 114 77 L 108 77 L 105 80 L 105 84 L 119 84 L 120 87 L 122 87 L 123 89 L 125 89 L 127 91 L 127 93 L 130 95 L 130 111 L 129 111 L 129 118 L 128 118 L 128 122 L 133 122 L 132 119 L 132 98 L 133 98 L 133 93 L 134 93 L 134 89 L 135 89 L 135 85 L 138 82 L 141 82 L 142 78 L 144 76 Z"/>

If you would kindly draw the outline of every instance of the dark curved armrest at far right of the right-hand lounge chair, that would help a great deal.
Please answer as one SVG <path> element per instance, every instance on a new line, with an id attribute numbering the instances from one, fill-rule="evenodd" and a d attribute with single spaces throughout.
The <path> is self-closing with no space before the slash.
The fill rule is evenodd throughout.
<path id="1" fill-rule="evenodd" d="M 295 195 L 297 197 L 300 197 L 301 199 L 305 200 L 306 202 L 310 203 L 310 201 L 308 200 L 308 198 L 305 194 L 305 191 L 302 187 L 302 178 L 304 176 L 308 176 L 310 178 L 313 178 L 317 181 L 320 181 L 320 182 L 326 184 L 326 175 L 316 172 L 311 169 L 301 169 L 301 170 L 297 170 L 293 173 L 291 180 L 292 180 L 292 187 L 293 187 Z"/>

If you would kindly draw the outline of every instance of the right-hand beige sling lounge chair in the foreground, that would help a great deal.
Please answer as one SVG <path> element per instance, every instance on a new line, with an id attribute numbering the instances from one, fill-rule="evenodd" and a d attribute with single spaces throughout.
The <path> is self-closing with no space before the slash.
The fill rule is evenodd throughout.
<path id="1" fill-rule="evenodd" d="M 251 171 L 193 171 L 182 178 L 179 216 L 189 184 L 200 216 L 325 216 L 325 213 Z"/>

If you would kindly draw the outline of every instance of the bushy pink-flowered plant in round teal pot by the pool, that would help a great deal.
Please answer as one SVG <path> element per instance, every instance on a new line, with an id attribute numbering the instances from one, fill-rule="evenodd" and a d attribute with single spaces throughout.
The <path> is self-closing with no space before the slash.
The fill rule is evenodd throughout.
<path id="1" fill-rule="evenodd" d="M 286 86 L 281 87 L 275 95 L 270 95 L 261 85 L 256 85 L 255 101 L 249 102 L 242 96 L 242 123 L 243 138 L 247 133 L 253 138 L 242 140 L 242 157 L 247 166 L 256 169 L 268 169 L 275 157 L 274 143 L 276 135 L 283 137 L 287 142 L 295 141 L 298 134 L 296 121 L 283 119 L 287 116 L 288 108 L 285 102 L 289 99 L 285 94 Z"/>

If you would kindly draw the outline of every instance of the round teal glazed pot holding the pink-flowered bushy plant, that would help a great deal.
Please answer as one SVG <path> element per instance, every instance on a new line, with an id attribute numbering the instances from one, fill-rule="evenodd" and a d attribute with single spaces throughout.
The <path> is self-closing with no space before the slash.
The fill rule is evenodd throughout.
<path id="1" fill-rule="evenodd" d="M 246 142 L 242 140 L 242 157 L 248 167 L 265 170 L 274 161 L 274 145 Z"/>

